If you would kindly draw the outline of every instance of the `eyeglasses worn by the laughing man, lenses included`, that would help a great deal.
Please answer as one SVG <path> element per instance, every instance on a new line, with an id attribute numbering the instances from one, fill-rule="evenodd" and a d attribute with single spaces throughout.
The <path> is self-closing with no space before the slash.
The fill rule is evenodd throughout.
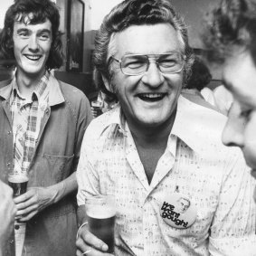
<path id="1" fill-rule="evenodd" d="M 128 54 L 121 60 L 114 56 L 111 58 L 119 62 L 120 70 L 128 76 L 137 76 L 145 74 L 149 63 L 156 63 L 156 67 L 164 74 L 174 74 L 182 71 L 184 67 L 185 56 L 180 52 L 168 52 L 163 54 Z"/>

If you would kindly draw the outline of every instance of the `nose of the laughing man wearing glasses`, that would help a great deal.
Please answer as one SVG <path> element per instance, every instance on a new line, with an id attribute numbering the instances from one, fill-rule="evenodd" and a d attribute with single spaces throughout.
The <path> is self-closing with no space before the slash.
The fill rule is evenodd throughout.
<path id="1" fill-rule="evenodd" d="M 151 87 L 158 87 L 164 82 L 164 76 L 159 71 L 156 62 L 149 62 L 147 72 L 143 75 L 142 81 Z"/>

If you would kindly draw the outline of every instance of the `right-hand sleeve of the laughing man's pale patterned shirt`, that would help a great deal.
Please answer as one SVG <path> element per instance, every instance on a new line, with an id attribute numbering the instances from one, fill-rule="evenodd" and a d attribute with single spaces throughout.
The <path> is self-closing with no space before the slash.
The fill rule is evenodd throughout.
<path id="1" fill-rule="evenodd" d="M 225 164 L 219 204 L 209 238 L 209 251 L 213 256 L 256 255 L 255 180 L 240 153 L 240 149 L 232 151 Z"/>

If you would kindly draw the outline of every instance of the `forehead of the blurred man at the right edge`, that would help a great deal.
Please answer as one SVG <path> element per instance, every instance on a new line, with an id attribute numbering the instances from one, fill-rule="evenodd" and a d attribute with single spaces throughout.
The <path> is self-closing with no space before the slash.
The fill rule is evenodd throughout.
<path id="1" fill-rule="evenodd" d="M 224 62 L 223 82 L 234 99 L 256 108 L 256 66 L 250 52 L 238 52 Z"/>

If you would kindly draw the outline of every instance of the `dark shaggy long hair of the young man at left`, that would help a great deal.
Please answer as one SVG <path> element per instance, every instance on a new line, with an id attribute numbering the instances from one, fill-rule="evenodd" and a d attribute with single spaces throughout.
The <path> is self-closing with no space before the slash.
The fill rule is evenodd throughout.
<path id="1" fill-rule="evenodd" d="M 33 15 L 30 15 L 33 14 Z M 5 26 L 0 34 L 0 53 L 5 60 L 14 60 L 14 23 L 44 23 L 47 19 L 52 24 L 52 46 L 46 62 L 46 68 L 60 68 L 63 63 L 62 33 L 59 31 L 60 14 L 51 0 L 15 0 L 5 14 Z"/>

